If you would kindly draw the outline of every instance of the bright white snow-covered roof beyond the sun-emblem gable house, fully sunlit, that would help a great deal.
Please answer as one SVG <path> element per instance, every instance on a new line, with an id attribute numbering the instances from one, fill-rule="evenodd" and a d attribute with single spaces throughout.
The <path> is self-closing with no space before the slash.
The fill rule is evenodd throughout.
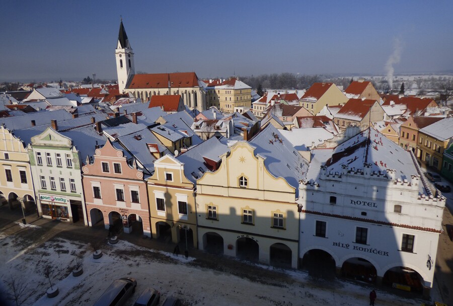
<path id="1" fill-rule="evenodd" d="M 292 146 L 298 151 L 307 151 L 314 146 L 324 143 L 327 139 L 332 139 L 334 135 L 324 128 L 293 128 L 290 131 L 281 130 L 280 133 L 291 142 Z"/>

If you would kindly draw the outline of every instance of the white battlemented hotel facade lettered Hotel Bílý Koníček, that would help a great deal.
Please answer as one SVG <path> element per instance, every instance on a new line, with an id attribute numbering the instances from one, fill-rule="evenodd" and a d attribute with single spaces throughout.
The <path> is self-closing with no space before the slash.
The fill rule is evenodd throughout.
<path id="1" fill-rule="evenodd" d="M 321 250 L 337 275 L 429 296 L 445 198 L 418 174 L 400 179 L 400 171 L 373 168 L 322 165 L 316 180 L 301 181 L 299 258 Z"/>

